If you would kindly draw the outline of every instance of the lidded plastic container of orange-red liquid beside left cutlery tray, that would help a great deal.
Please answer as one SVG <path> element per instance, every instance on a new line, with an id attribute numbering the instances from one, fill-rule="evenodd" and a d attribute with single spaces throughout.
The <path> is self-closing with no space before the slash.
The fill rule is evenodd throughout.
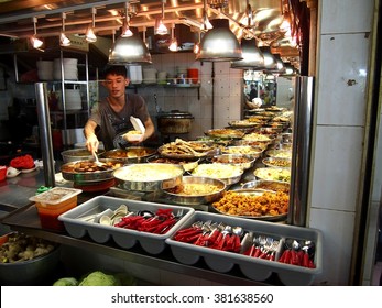
<path id="1" fill-rule="evenodd" d="M 65 230 L 58 216 L 77 206 L 77 195 L 83 190 L 76 188 L 54 187 L 45 193 L 33 196 L 31 201 L 37 208 L 41 227 L 51 230 Z"/>

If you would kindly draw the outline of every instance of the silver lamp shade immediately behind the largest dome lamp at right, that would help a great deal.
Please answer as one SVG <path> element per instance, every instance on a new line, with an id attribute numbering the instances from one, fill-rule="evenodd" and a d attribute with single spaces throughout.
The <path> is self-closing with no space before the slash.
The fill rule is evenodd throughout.
<path id="1" fill-rule="evenodd" d="M 254 38 L 241 40 L 242 59 L 231 62 L 231 68 L 239 69 L 264 69 L 264 57 L 257 46 Z"/>

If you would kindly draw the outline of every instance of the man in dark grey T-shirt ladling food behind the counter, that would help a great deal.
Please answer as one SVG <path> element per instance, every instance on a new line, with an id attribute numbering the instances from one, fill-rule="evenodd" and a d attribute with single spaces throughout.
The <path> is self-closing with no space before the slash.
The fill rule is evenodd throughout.
<path id="1" fill-rule="evenodd" d="M 127 141 L 122 135 L 133 130 L 130 116 L 139 118 L 145 127 L 144 134 L 137 143 L 154 134 L 154 123 L 143 98 L 135 94 L 125 94 L 129 82 L 124 66 L 109 66 L 105 70 L 102 85 L 109 95 L 91 110 L 84 128 L 86 146 L 90 152 L 97 152 L 99 140 L 103 142 L 106 151 L 125 146 Z"/>

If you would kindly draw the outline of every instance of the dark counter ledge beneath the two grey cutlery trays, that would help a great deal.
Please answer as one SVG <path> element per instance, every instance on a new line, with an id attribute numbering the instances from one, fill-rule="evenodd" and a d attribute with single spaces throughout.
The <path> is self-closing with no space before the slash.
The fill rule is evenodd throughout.
<path id="1" fill-rule="evenodd" d="M 79 202 L 85 201 L 91 197 L 94 197 L 92 194 L 81 194 L 79 195 Z M 170 251 L 170 248 L 166 248 L 162 253 L 157 255 L 152 255 L 145 252 L 139 245 L 129 250 L 123 250 L 119 248 L 116 243 L 113 243 L 113 241 L 108 241 L 107 243 L 99 244 L 92 241 L 88 235 L 81 239 L 76 239 L 68 235 L 66 232 L 54 232 L 44 230 L 41 228 L 40 218 L 34 204 L 29 204 L 24 207 L 21 207 L 12 211 L 10 215 L 4 217 L 1 222 L 10 226 L 11 229 L 14 231 L 24 232 L 64 245 L 70 245 L 78 249 L 89 250 L 94 253 L 118 257 L 132 263 L 152 266 L 184 275 L 189 275 L 192 277 L 208 277 L 209 280 L 223 283 L 227 285 L 282 284 L 275 276 L 270 277 L 265 282 L 252 280 L 245 277 L 238 267 L 232 268 L 228 273 L 217 273 L 208 268 L 208 266 L 203 261 L 193 265 L 182 264 L 177 262 L 176 258 L 173 256 L 173 254 Z"/>

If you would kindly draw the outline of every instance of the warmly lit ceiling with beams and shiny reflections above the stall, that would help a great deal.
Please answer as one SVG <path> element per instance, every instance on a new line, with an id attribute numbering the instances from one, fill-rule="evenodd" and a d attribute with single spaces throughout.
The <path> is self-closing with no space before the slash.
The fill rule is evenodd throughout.
<path id="1" fill-rule="evenodd" d="M 259 45 L 270 45 L 283 58 L 298 61 L 299 48 L 291 44 L 280 25 L 284 18 L 292 21 L 296 33 L 298 19 L 291 2 L 299 0 L 164 0 L 164 20 L 167 26 L 183 24 L 190 32 L 203 32 L 204 7 L 209 19 L 225 18 L 240 40 L 255 37 Z M 304 1 L 303 1 L 304 2 Z M 127 3 L 129 3 L 127 6 Z M 162 16 L 161 0 L 0 0 L 0 42 L 15 42 L 33 35 L 36 20 L 39 37 L 58 37 L 65 16 L 65 33 L 85 35 L 95 16 L 98 36 L 118 35 L 128 7 L 131 26 L 142 31 L 153 29 L 155 19 Z M 250 22 L 243 18 L 250 18 Z"/>

